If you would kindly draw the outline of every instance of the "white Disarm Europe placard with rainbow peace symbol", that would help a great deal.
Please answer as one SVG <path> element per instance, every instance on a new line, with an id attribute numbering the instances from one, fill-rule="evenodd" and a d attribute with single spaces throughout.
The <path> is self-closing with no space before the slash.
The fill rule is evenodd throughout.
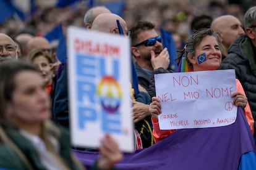
<path id="1" fill-rule="evenodd" d="M 74 27 L 67 33 L 72 144 L 96 148 L 110 134 L 122 151 L 134 151 L 129 38 Z"/>

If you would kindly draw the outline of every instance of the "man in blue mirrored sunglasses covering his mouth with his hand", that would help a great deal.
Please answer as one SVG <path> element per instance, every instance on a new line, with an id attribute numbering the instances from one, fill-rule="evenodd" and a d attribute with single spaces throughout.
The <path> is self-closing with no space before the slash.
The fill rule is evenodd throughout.
<path id="1" fill-rule="evenodd" d="M 138 22 L 130 30 L 132 39 L 132 55 L 135 57 L 135 68 L 139 84 L 150 94 L 155 94 L 154 74 L 172 73 L 169 69 L 169 54 L 163 49 L 161 36 L 155 31 L 155 25 L 151 22 Z"/>

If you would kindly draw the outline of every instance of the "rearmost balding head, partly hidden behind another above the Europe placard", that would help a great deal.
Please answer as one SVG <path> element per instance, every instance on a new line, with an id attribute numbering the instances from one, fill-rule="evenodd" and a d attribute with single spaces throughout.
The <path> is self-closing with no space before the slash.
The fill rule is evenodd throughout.
<path id="1" fill-rule="evenodd" d="M 85 23 L 85 28 L 91 29 L 92 28 L 92 23 L 95 20 L 95 18 L 103 13 L 111 13 L 109 9 L 107 9 L 104 6 L 98 6 L 98 7 L 93 7 L 87 11 L 85 14 L 85 17 L 83 18 L 83 22 Z"/>

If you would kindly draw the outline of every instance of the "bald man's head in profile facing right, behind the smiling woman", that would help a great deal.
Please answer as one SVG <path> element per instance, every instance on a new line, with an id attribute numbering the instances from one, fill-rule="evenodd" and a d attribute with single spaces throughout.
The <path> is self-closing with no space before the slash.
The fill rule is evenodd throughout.
<path id="1" fill-rule="evenodd" d="M 228 48 L 239 36 L 244 34 L 241 22 L 233 15 L 222 15 L 211 23 L 211 28 L 220 36 L 224 46 L 223 55 L 228 55 Z"/>

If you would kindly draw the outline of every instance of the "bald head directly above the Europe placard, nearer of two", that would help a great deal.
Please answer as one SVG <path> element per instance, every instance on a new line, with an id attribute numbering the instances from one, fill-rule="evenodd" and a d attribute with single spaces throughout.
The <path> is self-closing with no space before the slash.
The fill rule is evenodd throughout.
<path id="1" fill-rule="evenodd" d="M 120 34 L 117 28 L 116 20 L 119 20 L 124 34 L 128 34 L 126 22 L 116 14 L 103 13 L 98 15 L 92 24 L 92 30 L 97 30 L 105 33 Z"/>

